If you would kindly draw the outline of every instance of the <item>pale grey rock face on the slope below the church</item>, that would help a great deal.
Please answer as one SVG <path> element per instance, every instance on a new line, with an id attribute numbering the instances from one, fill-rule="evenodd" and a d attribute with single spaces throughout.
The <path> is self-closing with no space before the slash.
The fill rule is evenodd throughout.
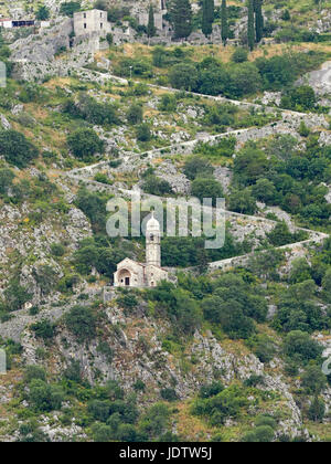
<path id="1" fill-rule="evenodd" d="M 122 309 L 111 302 L 106 309 L 107 316 L 103 327 L 103 341 L 114 354 L 113 359 L 108 359 L 98 350 L 99 340 L 92 340 L 87 345 L 78 344 L 65 328 L 61 318 L 68 309 L 70 307 L 50 308 L 33 318 L 26 315 L 24 318 L 23 315 L 20 317 L 25 323 L 20 341 L 28 363 L 40 363 L 36 352 L 43 346 L 42 341 L 31 333 L 29 325 L 46 317 L 58 323 L 52 346 L 53 372 L 63 372 L 73 360 L 76 360 L 79 361 L 84 378 L 93 384 L 99 380 L 104 383 L 115 379 L 125 390 L 130 391 L 136 380 L 140 379 L 153 392 L 154 398 L 160 394 L 162 388 L 172 388 L 180 399 L 192 397 L 202 384 L 213 382 L 215 376 L 225 386 L 236 379 L 245 381 L 254 376 L 258 379 L 256 388 L 267 396 L 270 394 L 270 398 L 273 393 L 277 393 L 278 400 L 274 401 L 273 408 L 276 413 L 281 407 L 284 413 L 277 434 L 290 436 L 300 434 L 301 413 L 290 393 L 290 387 L 279 375 L 279 362 L 276 359 L 268 366 L 266 372 L 265 365 L 254 355 L 231 352 L 210 331 L 202 335 L 196 330 L 190 346 L 186 347 L 188 361 L 190 356 L 195 359 L 194 369 L 183 369 L 180 360 L 162 346 L 162 337 L 169 329 L 168 323 L 150 319 L 146 316 L 145 306 L 137 309 L 136 316 L 126 316 Z M 137 317 L 139 320 L 142 319 L 143 324 L 137 324 Z M 65 344 L 63 339 L 66 339 Z M 248 398 L 248 401 L 252 413 L 255 413 L 255 398 Z M 64 428 L 64 431 L 54 429 L 46 419 L 42 426 L 47 434 L 52 434 L 54 441 L 61 441 L 61 432 L 68 436 L 73 431 L 82 433 L 82 430 L 75 428 L 70 430 Z"/>

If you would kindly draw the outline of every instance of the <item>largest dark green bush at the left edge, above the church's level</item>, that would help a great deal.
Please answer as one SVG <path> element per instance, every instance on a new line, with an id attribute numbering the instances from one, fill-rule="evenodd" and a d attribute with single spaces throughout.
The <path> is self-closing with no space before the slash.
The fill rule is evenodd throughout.
<path id="1" fill-rule="evenodd" d="M 0 130 L 0 155 L 18 168 L 26 168 L 39 156 L 36 147 L 17 130 Z"/>

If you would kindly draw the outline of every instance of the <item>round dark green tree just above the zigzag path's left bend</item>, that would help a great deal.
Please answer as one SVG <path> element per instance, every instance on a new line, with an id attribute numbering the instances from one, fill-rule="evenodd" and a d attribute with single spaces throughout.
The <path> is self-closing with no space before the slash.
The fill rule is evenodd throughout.
<path id="1" fill-rule="evenodd" d="M 97 152 L 103 154 L 104 141 L 93 129 L 77 129 L 67 136 L 67 145 L 76 158 L 89 161 Z"/>

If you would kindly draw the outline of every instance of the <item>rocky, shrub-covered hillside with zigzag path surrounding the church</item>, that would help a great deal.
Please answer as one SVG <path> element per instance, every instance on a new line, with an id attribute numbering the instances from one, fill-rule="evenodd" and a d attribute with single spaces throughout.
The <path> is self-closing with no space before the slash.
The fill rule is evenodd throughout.
<path id="1" fill-rule="evenodd" d="M 329 30 L 311 2 L 274 3 L 253 52 L 79 42 L 68 18 L 3 34 L 0 441 L 330 440 L 331 49 L 277 38 Z M 132 191 L 225 198 L 224 246 L 164 234 L 177 284 L 113 287 L 146 260 L 106 232 Z"/>

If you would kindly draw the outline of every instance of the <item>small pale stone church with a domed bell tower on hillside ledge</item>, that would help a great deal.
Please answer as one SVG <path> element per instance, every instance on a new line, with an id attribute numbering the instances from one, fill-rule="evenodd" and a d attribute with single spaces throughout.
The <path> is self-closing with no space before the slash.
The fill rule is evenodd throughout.
<path id="1" fill-rule="evenodd" d="M 152 212 L 146 224 L 146 263 L 126 257 L 117 265 L 114 274 L 115 287 L 154 287 L 161 281 L 169 281 L 169 273 L 161 267 L 160 223 Z"/>

